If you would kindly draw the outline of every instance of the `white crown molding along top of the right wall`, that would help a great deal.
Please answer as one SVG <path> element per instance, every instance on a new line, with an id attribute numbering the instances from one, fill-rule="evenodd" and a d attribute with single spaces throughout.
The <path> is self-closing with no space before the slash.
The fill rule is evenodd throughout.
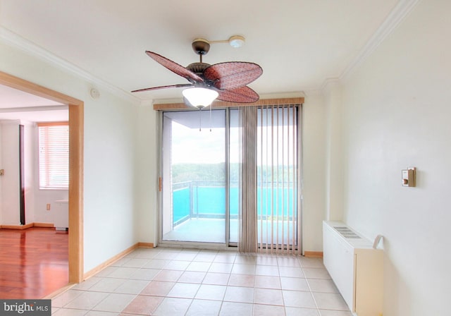
<path id="1" fill-rule="evenodd" d="M 340 80 L 347 80 L 354 71 L 376 50 L 376 48 L 383 42 L 385 37 L 390 35 L 393 30 L 401 23 L 402 20 L 412 11 L 414 6 L 420 0 L 400 0 L 390 14 L 385 18 L 381 26 L 373 33 L 369 41 L 361 50 L 360 54 L 345 68 L 345 71 L 340 75 Z M 325 86 L 323 84 L 323 86 Z"/>

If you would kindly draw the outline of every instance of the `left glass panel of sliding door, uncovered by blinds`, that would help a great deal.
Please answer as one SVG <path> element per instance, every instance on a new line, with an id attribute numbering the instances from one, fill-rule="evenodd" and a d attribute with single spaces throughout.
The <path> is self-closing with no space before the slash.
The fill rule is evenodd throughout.
<path id="1" fill-rule="evenodd" d="M 226 110 L 163 113 L 161 241 L 226 243 Z"/>

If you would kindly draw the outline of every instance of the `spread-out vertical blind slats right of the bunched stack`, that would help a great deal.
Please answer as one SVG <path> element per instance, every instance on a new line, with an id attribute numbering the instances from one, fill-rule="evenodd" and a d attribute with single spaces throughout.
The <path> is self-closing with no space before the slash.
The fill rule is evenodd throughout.
<path id="1" fill-rule="evenodd" d="M 261 107 L 257 128 L 258 248 L 299 253 L 297 105 Z"/>

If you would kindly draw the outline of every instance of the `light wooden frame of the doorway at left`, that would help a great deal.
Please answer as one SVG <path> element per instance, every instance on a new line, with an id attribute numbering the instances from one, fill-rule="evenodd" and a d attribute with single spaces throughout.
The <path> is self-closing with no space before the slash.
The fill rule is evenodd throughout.
<path id="1" fill-rule="evenodd" d="M 83 126 L 84 102 L 0 71 L 0 85 L 69 107 L 69 283 L 83 279 Z"/>

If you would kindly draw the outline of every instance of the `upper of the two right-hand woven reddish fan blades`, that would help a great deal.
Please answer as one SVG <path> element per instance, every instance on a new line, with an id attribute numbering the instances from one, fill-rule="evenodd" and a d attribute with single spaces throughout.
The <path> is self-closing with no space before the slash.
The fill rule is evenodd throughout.
<path id="1" fill-rule="evenodd" d="M 215 63 L 204 71 L 204 78 L 214 81 L 214 86 L 221 90 L 242 87 L 259 78 L 263 69 L 257 63 L 229 61 Z"/>

